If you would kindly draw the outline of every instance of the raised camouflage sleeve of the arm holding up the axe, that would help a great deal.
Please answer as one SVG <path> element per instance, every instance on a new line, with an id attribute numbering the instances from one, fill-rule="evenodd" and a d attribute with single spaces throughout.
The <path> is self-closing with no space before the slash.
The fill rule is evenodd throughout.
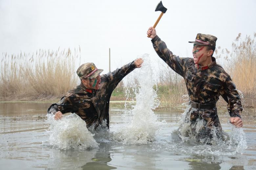
<path id="1" fill-rule="evenodd" d="M 188 58 L 180 58 L 179 56 L 173 55 L 173 53 L 167 48 L 165 42 L 163 42 L 158 36 L 154 37 L 151 42 L 153 43 L 153 47 L 158 56 L 176 73 L 184 77 L 185 62 Z"/>

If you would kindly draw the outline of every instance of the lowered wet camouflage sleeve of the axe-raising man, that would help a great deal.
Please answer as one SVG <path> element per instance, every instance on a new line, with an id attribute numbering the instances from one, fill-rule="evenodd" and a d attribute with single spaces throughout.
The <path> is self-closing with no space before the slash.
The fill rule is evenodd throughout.
<path id="1" fill-rule="evenodd" d="M 230 117 L 240 117 L 243 110 L 241 99 L 236 89 L 236 85 L 232 82 L 231 77 L 228 76 L 224 83 L 224 90 L 221 94 L 227 102 L 227 110 Z"/>

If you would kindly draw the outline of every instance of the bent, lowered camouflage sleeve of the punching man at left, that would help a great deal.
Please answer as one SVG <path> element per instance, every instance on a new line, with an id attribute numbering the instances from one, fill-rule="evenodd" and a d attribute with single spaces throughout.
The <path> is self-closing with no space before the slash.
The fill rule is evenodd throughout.
<path id="1" fill-rule="evenodd" d="M 61 111 L 62 114 L 65 113 L 74 113 L 77 112 L 76 107 L 73 106 L 72 98 L 71 97 L 62 97 L 58 103 L 52 104 L 48 110 L 48 114 L 55 114 L 57 111 Z"/>

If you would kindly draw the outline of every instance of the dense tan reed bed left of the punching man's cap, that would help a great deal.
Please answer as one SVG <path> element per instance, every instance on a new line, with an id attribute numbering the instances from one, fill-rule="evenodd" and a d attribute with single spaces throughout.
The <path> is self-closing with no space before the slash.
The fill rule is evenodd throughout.
<path id="1" fill-rule="evenodd" d="M 77 85 L 79 50 L 71 49 L 18 55 L 3 54 L 1 60 L 1 100 L 56 99 Z"/>

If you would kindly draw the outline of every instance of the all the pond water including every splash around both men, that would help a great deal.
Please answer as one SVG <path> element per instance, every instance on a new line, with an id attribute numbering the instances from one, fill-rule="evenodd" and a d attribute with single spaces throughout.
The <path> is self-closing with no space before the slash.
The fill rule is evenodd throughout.
<path id="1" fill-rule="evenodd" d="M 218 108 L 225 141 L 215 135 L 209 145 L 188 138 L 187 106 L 156 109 L 156 76 L 148 55 L 142 58 L 143 66 L 126 77 L 126 94 L 133 89 L 136 103 L 110 103 L 109 130 L 88 130 L 73 113 L 55 121 L 46 116 L 52 103 L 0 103 L 0 169 L 256 169 L 254 110 L 245 109 L 244 126 L 236 128 L 226 109 Z M 202 125 L 198 120 L 195 130 Z"/>

